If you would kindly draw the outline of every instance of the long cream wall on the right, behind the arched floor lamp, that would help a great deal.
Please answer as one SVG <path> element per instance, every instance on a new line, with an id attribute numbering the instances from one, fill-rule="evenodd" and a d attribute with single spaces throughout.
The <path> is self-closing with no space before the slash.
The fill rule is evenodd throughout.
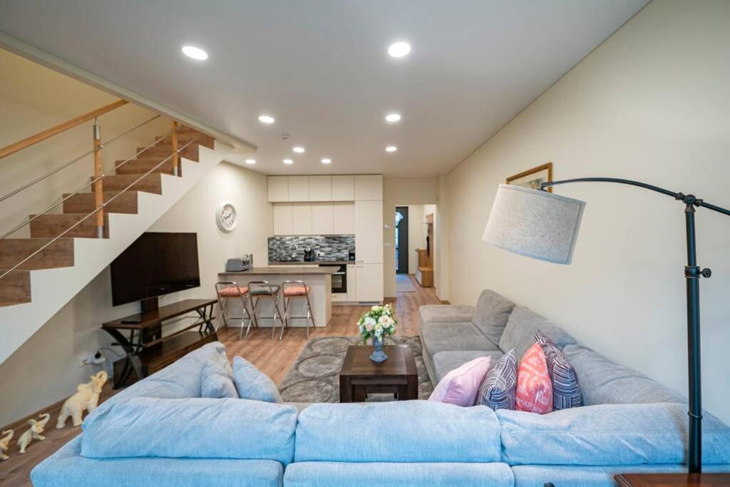
<path id="1" fill-rule="evenodd" d="M 447 177 L 450 300 L 492 288 L 604 355 L 686 391 L 684 208 L 666 196 L 586 183 L 573 264 L 482 242 L 497 185 L 553 161 L 556 180 L 626 177 L 730 207 L 727 1 L 655 0 Z M 440 207 L 440 202 L 439 202 Z M 730 421 L 730 219 L 699 210 L 704 406 Z"/>

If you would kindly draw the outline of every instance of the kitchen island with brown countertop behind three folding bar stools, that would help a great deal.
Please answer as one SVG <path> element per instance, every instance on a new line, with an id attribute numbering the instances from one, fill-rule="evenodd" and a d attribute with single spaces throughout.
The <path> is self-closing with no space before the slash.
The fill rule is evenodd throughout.
<path id="1" fill-rule="evenodd" d="M 331 266 L 269 266 L 254 267 L 247 271 L 240 272 L 220 272 L 218 274 L 219 281 L 232 281 L 242 286 L 255 280 L 265 280 L 272 285 L 281 285 L 285 280 L 303 280 L 304 283 L 312 287 L 310 292 L 310 302 L 312 304 L 312 315 L 314 315 L 315 325 L 318 327 L 327 326 L 332 318 L 332 275 L 337 272 L 337 267 Z M 283 294 L 280 293 L 279 309 L 284 312 Z M 241 301 L 239 299 L 229 299 L 226 308 L 228 316 L 242 316 Z M 274 305 L 272 299 L 261 298 L 256 307 L 256 315 L 258 316 L 259 326 L 272 326 L 272 318 L 261 318 L 261 316 L 273 316 Z M 299 316 L 305 318 L 291 318 L 289 326 L 307 326 L 307 302 L 303 298 L 294 298 L 291 300 L 289 309 L 290 316 Z M 231 320 L 233 321 L 233 320 Z M 228 323 L 229 326 L 234 323 Z M 238 321 L 235 321 L 238 324 Z M 280 323 L 277 323 L 280 326 Z"/>

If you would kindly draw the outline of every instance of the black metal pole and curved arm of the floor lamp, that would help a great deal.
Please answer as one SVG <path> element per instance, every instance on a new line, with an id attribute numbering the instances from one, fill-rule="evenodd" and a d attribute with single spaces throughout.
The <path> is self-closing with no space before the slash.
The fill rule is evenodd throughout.
<path id="1" fill-rule="evenodd" d="M 614 177 L 581 177 L 578 179 L 541 183 L 540 189 L 567 183 L 618 183 L 638 186 L 657 193 L 672 196 L 685 204 L 685 226 L 687 229 L 687 265 L 685 280 L 687 281 L 687 358 L 689 369 L 689 453 L 688 465 L 692 473 L 702 472 L 702 363 L 700 360 L 699 335 L 699 278 L 710 277 L 710 269 L 700 269 L 697 265 L 697 248 L 694 231 L 694 213 L 696 207 L 730 215 L 730 210 L 705 203 L 692 194 L 675 193 L 664 188 L 639 183 L 637 181 L 616 179 Z"/>

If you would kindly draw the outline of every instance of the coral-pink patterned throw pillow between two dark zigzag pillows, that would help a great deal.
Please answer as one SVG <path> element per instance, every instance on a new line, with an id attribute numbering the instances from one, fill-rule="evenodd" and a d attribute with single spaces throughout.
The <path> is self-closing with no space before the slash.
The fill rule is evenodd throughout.
<path id="1" fill-rule="evenodd" d="M 537 414 L 553 411 L 553 384 L 550 383 L 548 361 L 539 343 L 527 349 L 517 368 L 515 408 Z"/>

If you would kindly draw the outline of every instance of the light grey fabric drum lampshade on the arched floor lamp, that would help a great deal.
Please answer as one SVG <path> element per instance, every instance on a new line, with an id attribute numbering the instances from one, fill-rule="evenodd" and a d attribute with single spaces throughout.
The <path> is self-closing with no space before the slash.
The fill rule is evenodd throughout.
<path id="1" fill-rule="evenodd" d="M 482 239 L 520 256 L 570 264 L 585 202 L 499 185 Z"/>

